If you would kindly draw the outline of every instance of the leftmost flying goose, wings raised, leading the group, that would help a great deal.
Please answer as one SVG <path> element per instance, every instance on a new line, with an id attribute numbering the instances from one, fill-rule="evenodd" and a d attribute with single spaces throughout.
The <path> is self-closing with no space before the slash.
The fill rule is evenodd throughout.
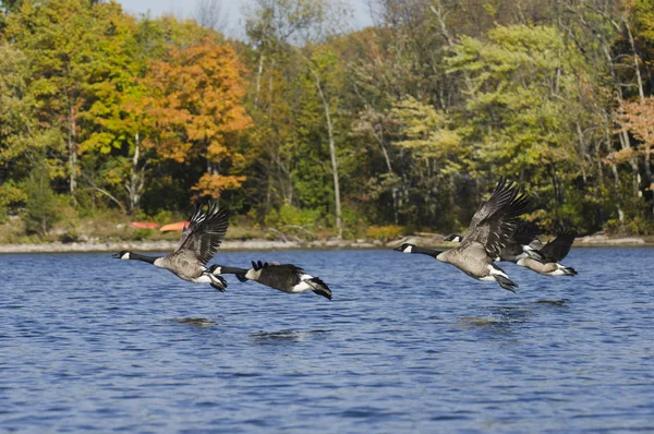
<path id="1" fill-rule="evenodd" d="M 113 257 L 118 260 L 136 260 L 147 262 L 159 268 L 166 268 L 180 279 L 195 284 L 209 284 L 219 291 L 225 291 L 227 281 L 215 276 L 205 264 L 214 257 L 220 242 L 227 232 L 229 210 L 218 208 L 216 201 L 209 201 L 206 213 L 199 204 L 191 217 L 191 222 L 184 228 L 180 244 L 174 252 L 166 256 L 145 256 L 122 251 Z"/>

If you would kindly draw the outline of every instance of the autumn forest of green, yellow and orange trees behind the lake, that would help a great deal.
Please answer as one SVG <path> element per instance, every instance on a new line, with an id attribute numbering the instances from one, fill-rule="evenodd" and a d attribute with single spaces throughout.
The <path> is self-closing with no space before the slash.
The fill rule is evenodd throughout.
<path id="1" fill-rule="evenodd" d="M 0 224 L 216 197 L 295 237 L 460 231 L 500 177 L 543 230 L 654 234 L 654 0 L 256 0 L 246 35 L 0 1 Z"/>

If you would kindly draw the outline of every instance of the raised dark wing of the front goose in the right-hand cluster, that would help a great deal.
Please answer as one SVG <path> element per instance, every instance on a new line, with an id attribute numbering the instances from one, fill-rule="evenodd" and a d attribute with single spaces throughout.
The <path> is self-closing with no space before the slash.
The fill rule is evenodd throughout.
<path id="1" fill-rule="evenodd" d="M 521 193 L 512 182 L 501 179 L 493 195 L 472 217 L 459 249 L 479 242 L 491 261 L 499 257 L 518 228 L 518 217 L 526 210 L 529 195 Z"/>

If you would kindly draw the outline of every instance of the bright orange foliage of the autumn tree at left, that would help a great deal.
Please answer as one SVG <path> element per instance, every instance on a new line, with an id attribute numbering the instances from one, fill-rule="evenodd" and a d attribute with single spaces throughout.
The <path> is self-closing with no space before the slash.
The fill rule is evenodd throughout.
<path id="1" fill-rule="evenodd" d="M 160 134 L 159 155 L 178 161 L 229 158 L 233 150 L 226 135 L 252 125 L 241 105 L 245 71 L 233 49 L 204 38 L 169 48 L 166 60 L 149 67 L 145 81 L 152 89 L 149 113 Z"/>

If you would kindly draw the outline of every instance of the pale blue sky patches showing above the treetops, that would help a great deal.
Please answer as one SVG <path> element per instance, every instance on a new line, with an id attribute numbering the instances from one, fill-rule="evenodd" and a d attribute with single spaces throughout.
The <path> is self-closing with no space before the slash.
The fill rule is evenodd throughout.
<path id="1" fill-rule="evenodd" d="M 133 14 L 146 13 L 149 11 L 153 15 L 162 13 L 172 13 L 177 16 L 193 17 L 196 0 L 118 0 L 126 12 Z M 242 11 L 249 4 L 250 0 L 221 0 L 222 9 L 227 14 L 228 28 L 230 36 L 243 35 L 243 14 Z M 372 19 L 368 13 L 367 0 L 350 0 L 353 11 L 352 23 L 354 28 L 372 25 Z"/>

